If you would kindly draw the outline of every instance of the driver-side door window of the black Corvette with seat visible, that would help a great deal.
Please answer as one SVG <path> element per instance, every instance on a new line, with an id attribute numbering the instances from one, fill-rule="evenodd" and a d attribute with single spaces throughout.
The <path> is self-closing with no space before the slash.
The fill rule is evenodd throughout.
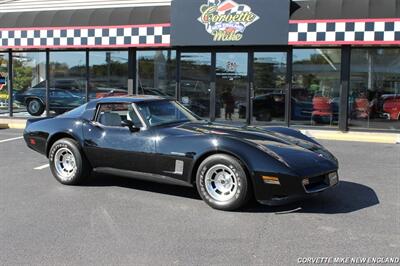
<path id="1" fill-rule="evenodd" d="M 122 121 L 132 121 L 136 127 L 142 126 L 130 103 L 101 104 L 98 108 L 96 121 L 104 126 L 122 127 Z"/>

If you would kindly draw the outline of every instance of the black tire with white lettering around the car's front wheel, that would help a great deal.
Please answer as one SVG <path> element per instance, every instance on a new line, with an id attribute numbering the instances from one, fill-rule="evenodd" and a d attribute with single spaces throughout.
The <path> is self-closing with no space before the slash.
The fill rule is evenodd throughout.
<path id="1" fill-rule="evenodd" d="M 228 169 L 228 171 L 231 171 L 231 173 L 234 175 L 234 178 L 236 179 L 237 189 L 234 193 L 232 192 L 232 195 L 230 195 L 233 197 L 227 200 L 218 200 L 217 198 L 215 198 L 215 192 L 214 193 L 209 192 L 210 186 L 213 187 L 213 184 L 215 188 L 217 188 L 217 183 L 219 183 L 219 186 L 221 186 L 222 184 L 218 181 L 214 183 L 206 181 L 207 176 L 213 176 L 212 175 L 212 173 L 214 172 L 213 169 L 215 168 L 218 169 L 218 167 L 229 168 L 230 170 Z M 214 175 L 215 180 L 217 179 L 217 177 L 215 176 L 218 175 L 219 173 Z M 207 186 L 207 184 L 209 184 L 209 186 Z M 244 207 L 251 198 L 251 193 L 252 193 L 251 184 L 246 174 L 245 167 L 239 160 L 226 154 L 211 155 L 200 164 L 196 175 L 196 185 L 201 198 L 209 206 L 211 206 L 214 209 L 224 210 L 224 211 L 234 211 Z M 221 195 L 224 196 L 224 193 L 221 193 Z"/>

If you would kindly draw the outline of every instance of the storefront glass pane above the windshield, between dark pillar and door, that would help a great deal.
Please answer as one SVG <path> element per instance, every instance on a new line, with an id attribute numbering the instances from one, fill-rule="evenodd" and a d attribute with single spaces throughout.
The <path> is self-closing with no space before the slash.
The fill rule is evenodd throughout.
<path id="1" fill-rule="evenodd" d="M 175 97 L 175 51 L 137 51 L 137 73 L 139 94 Z"/>

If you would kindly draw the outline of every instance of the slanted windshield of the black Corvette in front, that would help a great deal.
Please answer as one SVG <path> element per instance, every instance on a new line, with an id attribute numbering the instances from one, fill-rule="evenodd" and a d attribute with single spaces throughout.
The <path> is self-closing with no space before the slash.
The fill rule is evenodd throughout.
<path id="1" fill-rule="evenodd" d="M 150 126 L 198 121 L 199 119 L 175 101 L 153 101 L 137 104 L 139 112 Z"/>

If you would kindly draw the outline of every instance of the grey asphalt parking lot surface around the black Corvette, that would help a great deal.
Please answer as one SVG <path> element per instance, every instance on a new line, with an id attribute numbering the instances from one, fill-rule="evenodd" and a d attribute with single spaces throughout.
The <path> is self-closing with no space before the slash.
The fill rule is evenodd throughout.
<path id="1" fill-rule="evenodd" d="M 0 130 L 0 141 L 20 130 Z M 400 250 L 400 145 L 320 141 L 341 183 L 283 207 L 208 207 L 195 189 L 116 176 L 59 184 L 22 139 L 0 142 L 1 265 L 295 265 Z M 34 170 L 39 167 L 40 170 Z"/>

